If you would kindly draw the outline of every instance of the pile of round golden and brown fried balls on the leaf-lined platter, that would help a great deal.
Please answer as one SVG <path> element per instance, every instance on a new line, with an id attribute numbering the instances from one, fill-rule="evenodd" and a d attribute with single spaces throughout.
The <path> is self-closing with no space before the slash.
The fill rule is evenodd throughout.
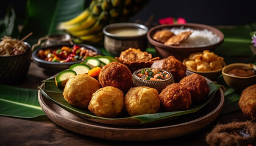
<path id="1" fill-rule="evenodd" d="M 151 68 L 171 72 L 176 83 L 162 92 L 147 86 L 134 87 L 132 72 L 126 64 L 112 62 L 101 69 L 98 80 L 87 74 L 69 78 L 63 96 L 73 106 L 88 108 L 96 116 L 110 118 L 124 111 L 129 116 L 182 111 L 207 99 L 210 88 L 205 78 L 199 74 L 186 76 L 185 65 L 175 57 L 155 60 Z"/>

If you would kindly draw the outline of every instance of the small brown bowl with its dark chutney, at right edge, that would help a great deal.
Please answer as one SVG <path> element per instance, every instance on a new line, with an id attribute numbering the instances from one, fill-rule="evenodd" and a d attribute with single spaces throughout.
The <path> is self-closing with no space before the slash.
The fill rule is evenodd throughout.
<path id="1" fill-rule="evenodd" d="M 256 65 L 249 63 L 233 63 L 222 69 L 224 81 L 236 91 L 243 91 L 256 84 Z"/>

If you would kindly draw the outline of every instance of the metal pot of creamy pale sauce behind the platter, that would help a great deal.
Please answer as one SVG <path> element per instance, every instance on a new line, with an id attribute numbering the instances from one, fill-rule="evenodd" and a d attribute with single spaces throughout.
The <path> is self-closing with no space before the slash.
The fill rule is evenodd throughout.
<path id="1" fill-rule="evenodd" d="M 114 55 L 130 47 L 146 50 L 148 27 L 137 23 L 114 23 L 103 29 L 104 47 Z"/>

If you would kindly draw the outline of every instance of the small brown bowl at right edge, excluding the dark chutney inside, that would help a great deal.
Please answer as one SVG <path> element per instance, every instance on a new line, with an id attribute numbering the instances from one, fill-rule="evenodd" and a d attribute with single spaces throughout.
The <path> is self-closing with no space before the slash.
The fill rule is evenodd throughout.
<path id="1" fill-rule="evenodd" d="M 247 88 L 248 86 L 256 84 L 256 74 L 248 76 L 248 77 L 240 77 L 235 75 L 227 74 L 231 69 L 249 69 L 252 65 L 254 71 L 256 71 L 255 64 L 245 64 L 245 63 L 233 63 L 225 66 L 222 70 L 222 75 L 224 81 L 229 85 L 231 88 L 235 89 L 236 91 L 243 91 L 243 89 Z"/>

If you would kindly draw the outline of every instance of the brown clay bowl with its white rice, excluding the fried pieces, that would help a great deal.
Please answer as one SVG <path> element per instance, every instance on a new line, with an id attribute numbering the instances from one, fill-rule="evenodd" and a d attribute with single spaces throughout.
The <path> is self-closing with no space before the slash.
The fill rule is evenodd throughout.
<path id="1" fill-rule="evenodd" d="M 174 35 L 179 35 L 187 31 L 192 33 L 187 39 L 180 41 L 179 44 L 166 45 L 165 43 L 153 39 L 155 33 L 160 30 L 169 30 L 174 33 Z M 173 55 L 180 61 L 183 61 L 194 52 L 202 52 L 203 50 L 214 51 L 224 40 L 223 33 L 215 27 L 193 23 L 155 26 L 149 30 L 147 37 L 149 43 L 157 50 L 157 54 L 160 58 Z"/>

